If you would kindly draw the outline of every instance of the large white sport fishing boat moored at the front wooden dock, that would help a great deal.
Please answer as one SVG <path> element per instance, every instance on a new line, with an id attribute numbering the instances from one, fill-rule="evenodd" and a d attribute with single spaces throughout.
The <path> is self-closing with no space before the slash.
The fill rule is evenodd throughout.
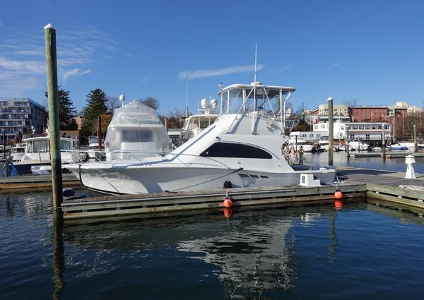
<path id="1" fill-rule="evenodd" d="M 330 167 L 293 169 L 285 160 L 283 103 L 295 88 L 251 84 L 220 90 L 220 116 L 164 156 L 76 163 L 82 183 L 104 193 L 154 193 L 299 184 L 301 174 L 333 182 Z"/>

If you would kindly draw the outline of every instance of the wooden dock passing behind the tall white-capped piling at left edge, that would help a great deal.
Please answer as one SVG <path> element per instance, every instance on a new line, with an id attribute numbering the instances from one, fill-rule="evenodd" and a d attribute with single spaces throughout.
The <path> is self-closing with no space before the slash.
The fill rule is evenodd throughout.
<path id="1" fill-rule="evenodd" d="M 82 186 L 73 174 L 62 174 L 64 188 Z M 0 177 L 0 193 L 16 191 L 51 191 L 52 175 L 21 175 Z"/>

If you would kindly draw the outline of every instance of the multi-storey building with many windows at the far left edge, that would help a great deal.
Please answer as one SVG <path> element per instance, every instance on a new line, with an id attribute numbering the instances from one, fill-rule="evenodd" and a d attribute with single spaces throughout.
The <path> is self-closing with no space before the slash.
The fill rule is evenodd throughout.
<path id="1" fill-rule="evenodd" d="M 0 133 L 4 143 L 18 133 L 42 133 L 46 125 L 46 109 L 30 98 L 0 98 Z"/>

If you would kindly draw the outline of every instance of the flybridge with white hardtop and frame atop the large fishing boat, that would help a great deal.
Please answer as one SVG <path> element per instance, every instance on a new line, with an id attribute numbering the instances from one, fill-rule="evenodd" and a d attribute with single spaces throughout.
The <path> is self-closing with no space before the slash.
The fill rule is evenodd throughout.
<path id="1" fill-rule="evenodd" d="M 285 103 L 295 88 L 264 85 L 253 82 L 249 85 L 234 84 L 218 92 L 221 97 L 221 114 L 254 114 L 268 116 L 274 121 L 281 121 L 281 131 L 285 128 Z"/>

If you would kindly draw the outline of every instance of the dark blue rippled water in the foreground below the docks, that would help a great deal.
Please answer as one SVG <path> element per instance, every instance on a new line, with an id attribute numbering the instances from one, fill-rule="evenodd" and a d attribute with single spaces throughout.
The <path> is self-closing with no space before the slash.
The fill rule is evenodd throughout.
<path id="1" fill-rule="evenodd" d="M 78 193 L 85 193 L 79 191 Z M 360 203 L 53 226 L 0 196 L 1 299 L 421 299 L 424 220 Z"/>

